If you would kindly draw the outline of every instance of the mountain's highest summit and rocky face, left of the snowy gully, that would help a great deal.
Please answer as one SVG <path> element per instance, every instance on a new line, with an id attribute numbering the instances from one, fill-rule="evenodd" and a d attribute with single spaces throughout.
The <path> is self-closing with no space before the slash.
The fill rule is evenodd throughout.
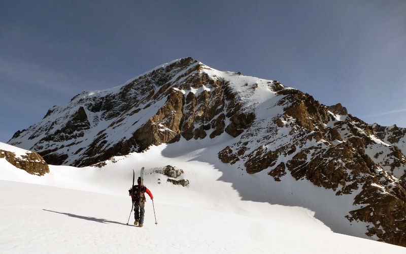
<path id="1" fill-rule="evenodd" d="M 242 77 L 191 57 L 177 59 L 123 85 L 80 93 L 69 104 L 51 108 L 41 122 L 17 132 L 9 143 L 38 151 L 51 164 L 86 166 L 181 137 L 214 138 L 243 103 L 260 99 L 249 98 L 257 79 Z M 234 116 L 226 129 L 233 136 L 242 132 L 234 128 L 238 118 Z"/>

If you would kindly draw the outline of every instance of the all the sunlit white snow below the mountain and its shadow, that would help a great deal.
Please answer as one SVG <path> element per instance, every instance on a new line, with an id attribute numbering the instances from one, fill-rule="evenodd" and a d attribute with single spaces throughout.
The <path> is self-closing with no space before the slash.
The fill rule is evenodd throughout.
<path id="1" fill-rule="evenodd" d="M 216 150 L 205 145 L 155 146 L 115 157 L 103 168 L 50 166 L 42 177 L 0 159 L 0 253 L 404 253 L 403 247 L 333 233 L 306 208 L 243 200 L 224 178 L 241 172 L 232 176 L 204 162 Z M 166 165 L 183 169 L 189 186 L 154 172 Z M 127 189 L 131 169 L 139 174 L 141 167 L 158 224 L 148 200 L 145 226 L 136 228 L 125 225 Z"/>

